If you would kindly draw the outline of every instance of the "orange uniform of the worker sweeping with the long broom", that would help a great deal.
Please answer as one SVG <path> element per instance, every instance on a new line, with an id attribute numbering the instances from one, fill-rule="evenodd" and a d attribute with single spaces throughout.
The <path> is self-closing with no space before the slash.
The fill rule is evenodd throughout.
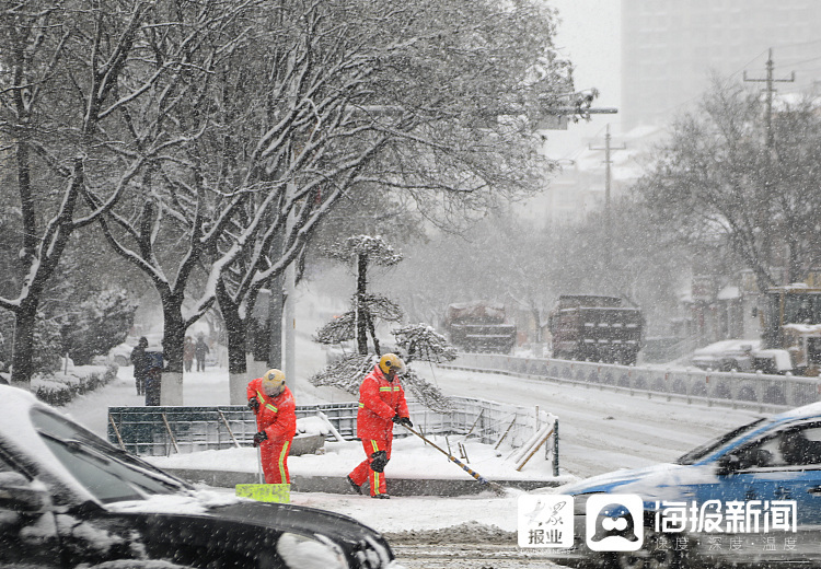
<path id="1" fill-rule="evenodd" d="M 362 440 L 365 461 L 350 473 L 358 486 L 368 480 L 371 496 L 386 493 L 384 473 L 371 468 L 373 453 L 384 451 L 391 458 L 393 443 L 393 417 L 407 417 L 405 390 L 398 378 L 388 381 L 379 365 L 365 376 L 359 386 L 359 411 L 357 413 L 357 437 Z"/>

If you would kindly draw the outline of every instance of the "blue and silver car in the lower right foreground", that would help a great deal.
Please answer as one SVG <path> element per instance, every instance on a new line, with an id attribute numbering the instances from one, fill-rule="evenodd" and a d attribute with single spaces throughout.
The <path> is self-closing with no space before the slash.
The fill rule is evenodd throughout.
<path id="1" fill-rule="evenodd" d="M 566 565 L 818 567 L 821 403 L 739 427 L 675 463 L 595 476 L 557 493 L 574 497 L 574 546 L 554 554 Z M 594 502 L 609 506 L 588 512 L 588 501 L 603 495 Z M 617 521 L 625 495 L 640 497 L 631 537 L 641 536 L 641 547 L 591 550 L 587 516 L 597 516 L 595 527 Z"/>

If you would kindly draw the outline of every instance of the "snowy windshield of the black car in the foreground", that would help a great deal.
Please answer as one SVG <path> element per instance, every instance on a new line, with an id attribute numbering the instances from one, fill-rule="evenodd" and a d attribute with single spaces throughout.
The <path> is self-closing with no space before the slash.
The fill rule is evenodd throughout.
<path id="1" fill-rule="evenodd" d="M 187 488 L 185 483 L 46 409 L 32 409 L 32 423 L 57 460 L 103 503 L 140 500 Z"/>

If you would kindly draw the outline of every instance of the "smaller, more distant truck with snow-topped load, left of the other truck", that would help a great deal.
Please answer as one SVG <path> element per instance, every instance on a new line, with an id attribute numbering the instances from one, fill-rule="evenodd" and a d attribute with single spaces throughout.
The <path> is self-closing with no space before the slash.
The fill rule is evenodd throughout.
<path id="1" fill-rule="evenodd" d="M 506 322 L 504 304 L 450 304 L 444 325 L 451 344 L 462 351 L 510 353 L 516 346 L 516 326 Z"/>

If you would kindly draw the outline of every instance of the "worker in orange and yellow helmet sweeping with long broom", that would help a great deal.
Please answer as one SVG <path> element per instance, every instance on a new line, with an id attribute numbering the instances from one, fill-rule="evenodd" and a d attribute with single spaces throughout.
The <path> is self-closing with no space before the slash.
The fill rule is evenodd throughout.
<path id="1" fill-rule="evenodd" d="M 405 390 L 398 374 L 405 363 L 395 353 L 385 353 L 359 386 L 357 437 L 362 440 L 365 461 L 348 475 L 348 483 L 358 493 L 366 480 L 371 498 L 390 498 L 385 487 L 384 469 L 391 460 L 393 426 L 413 427 L 407 411 Z"/>

